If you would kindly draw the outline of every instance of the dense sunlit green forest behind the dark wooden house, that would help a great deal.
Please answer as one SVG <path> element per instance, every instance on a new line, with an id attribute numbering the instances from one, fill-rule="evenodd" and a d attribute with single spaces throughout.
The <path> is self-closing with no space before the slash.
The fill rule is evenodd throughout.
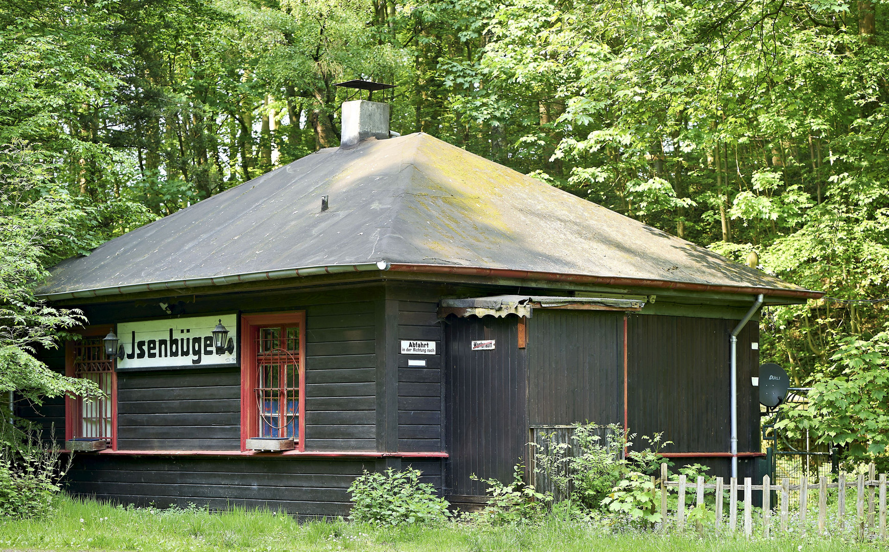
<path id="1" fill-rule="evenodd" d="M 336 146 L 333 84 L 365 78 L 397 85 L 382 96 L 398 132 L 825 290 L 766 311 L 764 360 L 820 386 L 822 436 L 881 452 L 887 16 L 843 0 L 0 0 L 0 317 L 17 321 L 0 364 L 79 322 L 34 306 L 46 267 Z"/>

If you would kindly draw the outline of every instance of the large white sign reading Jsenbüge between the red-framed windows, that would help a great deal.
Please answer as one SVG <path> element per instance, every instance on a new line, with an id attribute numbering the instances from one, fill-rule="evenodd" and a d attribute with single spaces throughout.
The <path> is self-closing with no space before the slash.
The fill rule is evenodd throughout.
<path id="1" fill-rule="evenodd" d="M 216 354 L 213 328 L 228 330 L 235 350 Z M 188 316 L 117 324 L 117 338 L 125 356 L 117 361 L 118 371 L 174 370 L 200 366 L 237 365 L 237 315 Z"/>

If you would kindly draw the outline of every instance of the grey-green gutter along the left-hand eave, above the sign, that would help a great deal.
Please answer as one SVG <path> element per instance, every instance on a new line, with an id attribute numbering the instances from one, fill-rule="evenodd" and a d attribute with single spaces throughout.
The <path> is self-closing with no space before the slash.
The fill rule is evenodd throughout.
<path id="1" fill-rule="evenodd" d="M 38 293 L 45 300 L 82 299 L 88 297 L 103 297 L 108 295 L 124 295 L 127 293 L 156 292 L 159 290 L 181 290 L 193 287 L 207 287 L 212 285 L 241 284 L 244 282 L 261 282 L 264 280 L 279 280 L 300 276 L 319 276 L 323 274 L 342 274 L 345 272 L 368 272 L 372 270 L 388 270 L 388 262 L 365 262 L 356 265 L 321 265 L 317 267 L 281 268 L 263 272 L 248 272 L 246 274 L 231 274 L 226 276 L 212 276 L 207 278 L 191 278 L 186 280 L 171 280 L 167 282 L 148 282 L 145 284 L 119 285 L 102 287 L 91 290 L 79 290 L 76 292 Z"/>

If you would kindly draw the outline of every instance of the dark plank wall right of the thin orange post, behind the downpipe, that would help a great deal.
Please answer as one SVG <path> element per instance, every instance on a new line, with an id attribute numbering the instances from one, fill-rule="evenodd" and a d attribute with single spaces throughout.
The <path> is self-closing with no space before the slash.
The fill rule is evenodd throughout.
<path id="1" fill-rule="evenodd" d="M 663 432 L 662 452 L 729 452 L 729 335 L 735 320 L 685 316 L 629 318 L 629 429 Z M 740 452 L 758 451 L 757 321 L 738 336 Z M 693 461 L 693 460 L 689 460 Z"/>

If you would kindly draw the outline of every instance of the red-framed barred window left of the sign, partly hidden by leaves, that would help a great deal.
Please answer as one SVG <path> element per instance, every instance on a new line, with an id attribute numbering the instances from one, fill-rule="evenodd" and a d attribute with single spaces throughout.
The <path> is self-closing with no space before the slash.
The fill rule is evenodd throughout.
<path id="1" fill-rule="evenodd" d="M 99 332 L 99 330 L 97 330 Z M 92 333 L 92 332 L 86 332 Z M 107 439 L 116 448 L 117 379 L 115 359 L 105 355 L 102 339 L 97 336 L 69 341 L 66 351 L 66 374 L 91 380 L 104 396 L 66 399 L 66 438 L 94 437 Z"/>

